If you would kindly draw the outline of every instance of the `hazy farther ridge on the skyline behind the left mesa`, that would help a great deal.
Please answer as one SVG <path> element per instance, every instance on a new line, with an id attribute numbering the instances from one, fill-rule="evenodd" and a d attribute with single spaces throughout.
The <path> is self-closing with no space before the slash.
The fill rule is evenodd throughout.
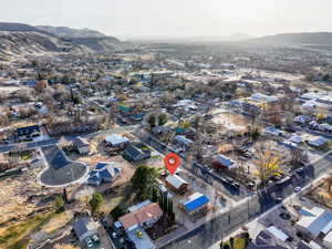
<path id="1" fill-rule="evenodd" d="M 35 25 L 37 29 L 53 33 L 59 38 L 105 38 L 106 35 L 90 29 L 72 29 L 68 27 Z"/>

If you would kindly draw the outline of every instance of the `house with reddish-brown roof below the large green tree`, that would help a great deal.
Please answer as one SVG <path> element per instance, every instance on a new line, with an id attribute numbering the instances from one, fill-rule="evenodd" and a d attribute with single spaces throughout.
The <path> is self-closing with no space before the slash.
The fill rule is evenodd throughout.
<path id="1" fill-rule="evenodd" d="M 153 203 L 139 208 L 138 210 L 120 217 L 118 221 L 126 231 L 131 231 L 138 227 L 151 227 L 162 218 L 163 214 L 164 212 L 159 205 Z"/>

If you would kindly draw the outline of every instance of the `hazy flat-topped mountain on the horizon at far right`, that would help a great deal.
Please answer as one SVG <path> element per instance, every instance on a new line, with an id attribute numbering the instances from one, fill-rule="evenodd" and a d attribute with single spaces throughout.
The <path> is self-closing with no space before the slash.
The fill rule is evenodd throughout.
<path id="1" fill-rule="evenodd" d="M 282 33 L 246 41 L 251 44 L 331 45 L 332 32 Z"/>

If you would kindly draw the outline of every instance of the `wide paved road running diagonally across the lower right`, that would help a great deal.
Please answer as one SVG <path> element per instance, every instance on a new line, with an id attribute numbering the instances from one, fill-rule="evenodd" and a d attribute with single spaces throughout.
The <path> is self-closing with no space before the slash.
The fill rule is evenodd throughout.
<path id="1" fill-rule="evenodd" d="M 251 196 L 247 204 L 237 206 L 232 208 L 231 211 L 218 216 L 215 220 L 206 222 L 197 229 L 186 234 L 175 242 L 167 245 L 164 249 L 209 248 L 220 241 L 222 236 L 229 235 L 231 231 L 243 226 L 249 219 L 253 219 L 276 206 L 276 201 L 273 201 L 271 196 L 290 196 L 293 193 L 292 189 L 294 186 L 305 186 L 310 184 L 312 179 L 323 175 L 328 168 L 332 168 L 331 158 L 322 158 L 314 165 L 309 165 L 305 168 L 305 176 L 300 177 L 301 179 L 299 177 L 294 177 L 291 184 L 279 186 L 273 189 L 272 195 L 261 194 Z"/>

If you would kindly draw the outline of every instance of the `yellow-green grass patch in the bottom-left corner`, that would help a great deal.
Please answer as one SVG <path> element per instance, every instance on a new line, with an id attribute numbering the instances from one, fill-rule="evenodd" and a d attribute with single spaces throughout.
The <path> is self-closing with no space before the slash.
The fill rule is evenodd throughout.
<path id="1" fill-rule="evenodd" d="M 37 215 L 10 227 L 0 229 L 0 248 L 23 249 L 30 239 L 30 235 L 42 228 L 49 220 L 55 216 L 54 211 Z"/>

